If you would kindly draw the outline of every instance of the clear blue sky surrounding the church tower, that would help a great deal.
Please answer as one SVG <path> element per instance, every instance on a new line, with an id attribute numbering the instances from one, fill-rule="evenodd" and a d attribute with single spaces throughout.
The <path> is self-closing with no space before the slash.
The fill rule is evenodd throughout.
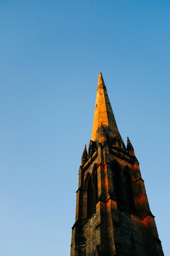
<path id="1" fill-rule="evenodd" d="M 102 72 L 170 255 L 170 2 L 0 3 L 0 255 L 67 256 Z"/>

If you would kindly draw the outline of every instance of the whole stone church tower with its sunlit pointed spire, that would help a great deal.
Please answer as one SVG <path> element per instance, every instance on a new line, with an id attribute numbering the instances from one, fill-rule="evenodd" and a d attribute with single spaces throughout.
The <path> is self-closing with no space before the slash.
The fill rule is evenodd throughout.
<path id="1" fill-rule="evenodd" d="M 120 136 L 101 73 L 78 175 L 71 256 L 164 255 L 139 162 Z"/>

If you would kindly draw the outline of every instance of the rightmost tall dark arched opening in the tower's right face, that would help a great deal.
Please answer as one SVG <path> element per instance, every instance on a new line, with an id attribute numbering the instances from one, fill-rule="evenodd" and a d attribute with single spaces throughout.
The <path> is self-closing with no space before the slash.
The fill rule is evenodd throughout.
<path id="1" fill-rule="evenodd" d="M 126 191 L 126 199 L 128 208 L 135 211 L 135 200 L 134 200 L 134 193 L 132 189 L 132 181 L 129 173 L 125 170 L 124 171 L 124 180 L 125 180 L 125 191 Z"/>

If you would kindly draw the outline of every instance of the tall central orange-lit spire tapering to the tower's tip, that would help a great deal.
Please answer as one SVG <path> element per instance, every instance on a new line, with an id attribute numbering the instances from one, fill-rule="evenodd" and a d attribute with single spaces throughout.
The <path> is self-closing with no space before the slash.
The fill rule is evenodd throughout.
<path id="1" fill-rule="evenodd" d="M 100 72 L 92 127 L 92 141 L 99 141 L 101 123 L 106 132 L 107 142 L 112 145 L 113 138 L 119 135 L 123 148 L 126 149 L 115 121 L 102 73 Z"/>

